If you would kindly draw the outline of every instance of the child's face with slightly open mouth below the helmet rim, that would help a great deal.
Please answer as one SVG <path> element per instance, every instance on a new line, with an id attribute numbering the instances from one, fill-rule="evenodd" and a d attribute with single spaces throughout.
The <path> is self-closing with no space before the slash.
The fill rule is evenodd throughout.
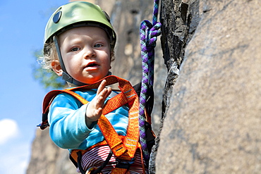
<path id="1" fill-rule="evenodd" d="M 90 84 L 108 74 L 109 39 L 101 28 L 73 28 L 59 35 L 59 44 L 66 70 L 75 80 Z"/>

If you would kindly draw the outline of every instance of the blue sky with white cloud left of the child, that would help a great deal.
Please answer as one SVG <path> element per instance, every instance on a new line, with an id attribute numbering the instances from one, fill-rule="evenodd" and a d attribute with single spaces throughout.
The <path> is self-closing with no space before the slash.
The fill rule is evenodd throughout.
<path id="1" fill-rule="evenodd" d="M 47 89 L 34 80 L 33 53 L 42 49 L 51 9 L 68 0 L 0 1 L 0 173 L 25 174 Z"/>

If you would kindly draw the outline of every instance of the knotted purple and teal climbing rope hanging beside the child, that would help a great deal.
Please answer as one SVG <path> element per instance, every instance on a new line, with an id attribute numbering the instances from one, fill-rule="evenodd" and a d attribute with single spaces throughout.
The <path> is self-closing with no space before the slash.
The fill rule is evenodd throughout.
<path id="1" fill-rule="evenodd" d="M 140 24 L 140 47 L 142 58 L 142 83 L 140 92 L 140 110 L 139 110 L 139 126 L 140 126 L 140 144 L 143 151 L 145 163 L 149 163 L 150 153 L 147 150 L 146 134 L 145 134 L 145 104 L 147 101 L 147 89 L 153 87 L 154 83 L 154 47 L 156 46 L 157 36 L 161 34 L 161 23 L 157 23 L 157 15 L 159 11 L 159 0 L 154 0 L 154 9 L 152 23 L 143 20 Z"/>

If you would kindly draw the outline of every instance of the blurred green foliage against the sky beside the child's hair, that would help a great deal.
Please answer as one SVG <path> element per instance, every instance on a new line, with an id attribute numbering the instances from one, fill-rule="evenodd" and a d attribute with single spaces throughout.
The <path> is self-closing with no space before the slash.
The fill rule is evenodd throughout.
<path id="1" fill-rule="evenodd" d="M 42 57 L 42 51 L 35 51 L 35 64 L 32 65 L 32 73 L 35 80 L 39 81 L 45 89 L 61 89 L 64 88 L 66 82 L 61 79 L 54 71 L 47 71 L 42 68 L 39 59 Z"/>

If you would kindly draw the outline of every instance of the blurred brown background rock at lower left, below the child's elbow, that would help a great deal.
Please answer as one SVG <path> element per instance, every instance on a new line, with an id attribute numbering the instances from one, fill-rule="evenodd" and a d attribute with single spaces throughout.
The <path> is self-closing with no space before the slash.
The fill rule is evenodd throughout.
<path id="1" fill-rule="evenodd" d="M 37 130 L 27 174 L 76 173 L 68 160 L 68 151 L 57 147 L 49 137 L 49 128 Z"/>

